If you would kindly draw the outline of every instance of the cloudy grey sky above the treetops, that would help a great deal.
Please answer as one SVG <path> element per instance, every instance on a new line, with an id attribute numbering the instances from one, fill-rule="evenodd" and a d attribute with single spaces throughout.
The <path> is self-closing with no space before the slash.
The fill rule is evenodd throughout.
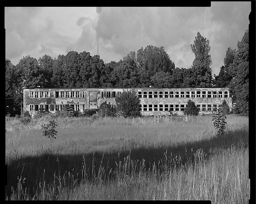
<path id="1" fill-rule="evenodd" d="M 5 57 L 16 65 L 69 51 L 119 61 L 147 45 L 164 46 L 179 68 L 190 68 L 197 32 L 211 46 L 213 74 L 227 48 L 237 48 L 249 28 L 251 2 L 211 2 L 211 7 L 5 7 Z"/>

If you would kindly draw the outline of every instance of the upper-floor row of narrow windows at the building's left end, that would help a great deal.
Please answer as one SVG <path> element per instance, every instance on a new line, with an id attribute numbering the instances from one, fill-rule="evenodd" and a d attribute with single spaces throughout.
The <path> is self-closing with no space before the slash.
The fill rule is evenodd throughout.
<path id="1" fill-rule="evenodd" d="M 35 91 L 29 92 L 30 98 L 79 98 L 79 91 Z M 85 91 L 83 91 L 83 98 Z"/>

